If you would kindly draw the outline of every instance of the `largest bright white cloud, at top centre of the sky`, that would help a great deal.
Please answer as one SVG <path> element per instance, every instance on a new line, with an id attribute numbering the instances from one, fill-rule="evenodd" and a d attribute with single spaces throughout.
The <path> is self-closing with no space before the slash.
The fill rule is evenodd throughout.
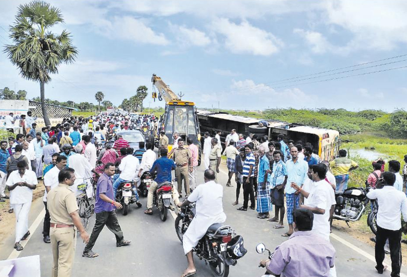
<path id="1" fill-rule="evenodd" d="M 283 46 L 272 33 L 256 28 L 246 20 L 237 25 L 229 19 L 219 18 L 212 22 L 211 28 L 225 37 L 225 47 L 235 54 L 270 56 Z"/>

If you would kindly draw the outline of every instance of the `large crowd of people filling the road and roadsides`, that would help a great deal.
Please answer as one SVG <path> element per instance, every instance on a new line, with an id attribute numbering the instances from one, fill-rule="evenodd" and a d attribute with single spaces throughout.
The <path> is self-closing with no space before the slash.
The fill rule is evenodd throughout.
<path id="1" fill-rule="evenodd" d="M 12 118 L 12 115 L 10 117 Z M 22 117 L 23 121 L 29 117 Z M 312 230 L 313 235 L 319 236 L 319 239 L 326 242 L 321 242 L 321 244 L 327 251 L 327 257 L 330 257 L 329 261 L 327 260 L 327 270 L 329 276 L 336 276 L 333 247 L 329 243 L 333 209 L 336 204 L 335 192 L 343 192 L 348 188 L 349 171 L 358 168 L 355 161 L 347 157 L 345 150 L 340 150 L 339 156 L 331 161 L 321 161 L 318 154 L 314 153 L 313 145 L 309 143 L 286 140 L 283 134 L 279 134 L 276 141 L 269 141 L 268 136 L 259 138 L 253 134 L 249 134 L 245 139 L 234 129 L 227 135 L 223 149 L 221 132 L 215 133 L 213 137 L 206 132 L 202 146 L 203 164 L 206 170 L 205 182 L 207 183 L 204 189 L 200 188 L 202 185 L 198 186 L 196 181 L 199 159 L 199 149 L 196 143 L 190 137 L 181 137 L 178 133 L 174 133 L 172 134 L 172 149 L 168 152 L 167 134 L 165 132 L 157 133 L 157 119 L 153 114 L 137 119 L 124 116 L 97 116 L 87 119 L 71 117 L 64 119 L 56 126 L 43 127 L 41 131 L 36 130 L 35 119 L 30 117 L 27 122 L 22 123 L 25 126 L 23 133 L 9 137 L 8 141 L 0 142 L 0 194 L 2 198 L 10 198 L 9 213 L 15 213 L 16 217 L 14 248 L 21 251 L 23 246 L 20 242 L 26 240 L 30 235 L 28 215 L 33 190 L 36 188 L 38 180 L 44 181 L 46 190 L 43 201 L 46 214 L 43 239 L 45 243 L 52 244 L 53 276 L 69 276 L 72 269 L 73 250 L 71 248 L 75 242 L 73 237 L 63 236 L 66 234 L 63 232 L 63 228 L 69 228 L 69 232 L 74 232 L 75 228 L 79 230 L 80 236 L 87 243 L 83 257 L 98 256 L 92 249 L 105 225 L 115 234 L 118 247 L 130 244 L 130 241 L 124 240 L 115 214 L 115 209 L 121 209 L 121 204 L 115 201 L 116 190 L 121 182 L 134 181 L 139 184 L 140 178 L 145 172 L 156 174 L 148 192 L 145 211 L 145 214 L 151 215 L 155 190 L 162 183 L 173 181 L 171 172 L 174 170 L 174 180 L 177 182 L 177 187 L 174 186 L 172 191 L 174 204 L 181 206 L 189 202 L 202 201 L 203 204 L 200 205 L 205 205 L 207 199 L 211 199 L 211 197 L 222 198 L 223 192 L 219 190 L 217 176 L 220 172 L 222 155 L 227 158 L 226 165 L 229 171 L 226 187 L 233 187 L 232 178 L 235 175 L 236 199 L 232 203 L 233 205 L 239 204 L 241 188 L 243 190 L 243 203 L 237 210 L 242 212 L 249 208 L 256 210 L 258 219 L 276 222 L 273 226 L 275 229 L 286 228 L 284 226 L 284 217 L 286 217 L 288 230 L 282 236 L 290 237 L 289 245 L 284 245 L 288 248 L 295 247 L 294 241 L 300 240 L 300 236 L 308 236 L 306 233 L 297 233 L 300 230 L 300 223 L 294 224 L 294 222 L 300 220 L 301 217 L 303 220 L 306 218 L 308 224 L 311 220 L 311 225 L 302 222 L 301 228 L 303 231 Z M 150 134 L 152 137 L 157 137 L 159 158 L 154 152 L 154 138 L 140 142 L 138 149 L 134 151 L 120 135 L 121 130 L 139 128 L 141 124 L 151 126 L 149 127 Z M 111 137 L 114 137 L 114 140 L 111 140 Z M 104 147 L 98 148 L 100 144 L 103 144 Z M 405 162 L 407 164 L 407 155 Z M 407 180 L 407 166 L 403 167 L 402 177 L 399 174 L 400 163 L 396 160 L 388 161 L 389 171 L 386 172 L 384 172 L 383 160 L 378 159 L 372 165 L 373 172 L 367 177 L 366 183 L 372 188 L 368 197 L 378 199 L 379 204 L 375 248 L 376 269 L 379 273 L 385 269 L 382 262 L 384 245 L 388 240 L 392 259 L 392 276 L 398 276 L 401 264 L 399 255 L 401 223 L 395 224 L 395 222 L 400 221 L 401 213 L 407 218 L 407 198 L 402 192 Z M 119 173 L 116 172 L 117 170 Z M 93 196 L 91 178 L 98 180 L 95 204 L 96 223 L 92 235 L 89 236 L 79 220 L 75 184 L 88 183 L 87 195 L 90 198 Z M 184 186 L 182 186 L 183 184 Z M 10 196 L 5 194 L 6 186 Z M 383 186 L 384 189 L 380 189 Z M 137 205 L 141 206 L 135 188 L 134 193 Z M 179 198 L 183 194 L 187 201 L 181 203 Z M 199 198 L 204 196 L 203 200 Z M 4 201 L 4 199 L 2 200 Z M 273 205 L 274 216 L 271 217 Z M 208 209 L 208 207 L 206 208 Z M 203 206 L 200 209 L 205 211 Z M 225 221 L 226 216 L 222 209 L 218 210 L 210 213 L 216 214 L 217 221 Z M 197 213 L 199 212 L 197 211 Z M 296 216 L 296 213 L 299 214 Z M 206 226 L 208 222 L 213 222 L 213 220 L 201 223 L 201 225 Z M 296 235 L 292 236 L 295 231 L 297 231 Z M 184 272 L 184 276 L 189 276 L 196 271 L 193 260 L 191 260 L 191 249 L 201 236 L 191 234 L 191 232 L 193 231 L 187 234 L 189 239 L 185 240 L 184 244 L 188 259 L 188 268 Z M 202 232 L 199 230 L 198 233 Z M 294 237 L 296 237 L 295 240 Z M 311 242 L 313 237 L 309 237 L 308 240 Z M 62 244 L 65 245 L 65 248 L 61 246 Z M 281 249 L 283 246 L 279 247 Z M 320 251 L 321 247 L 315 249 Z M 284 254 L 281 253 L 281 255 Z M 315 255 L 317 254 L 315 253 Z M 62 259 L 70 262 L 60 263 Z M 284 261 L 286 261 L 285 267 L 278 261 L 262 261 L 262 265 L 273 274 L 289 275 L 288 272 L 294 271 L 290 271 L 293 270 L 290 269 L 290 262 Z M 291 266 L 293 264 L 294 261 Z M 279 269 L 281 272 L 278 272 Z"/>

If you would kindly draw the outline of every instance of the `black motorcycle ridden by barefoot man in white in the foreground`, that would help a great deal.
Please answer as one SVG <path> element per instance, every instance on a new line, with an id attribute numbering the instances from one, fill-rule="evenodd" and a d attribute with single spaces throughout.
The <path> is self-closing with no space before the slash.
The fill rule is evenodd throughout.
<path id="1" fill-rule="evenodd" d="M 175 232 L 182 242 L 182 236 L 195 216 L 195 203 L 181 207 L 175 219 Z M 237 260 L 245 256 L 243 237 L 228 225 L 216 223 L 211 225 L 205 236 L 199 240 L 193 251 L 200 260 L 205 260 L 215 276 L 227 277 L 229 267 L 236 265 Z"/>

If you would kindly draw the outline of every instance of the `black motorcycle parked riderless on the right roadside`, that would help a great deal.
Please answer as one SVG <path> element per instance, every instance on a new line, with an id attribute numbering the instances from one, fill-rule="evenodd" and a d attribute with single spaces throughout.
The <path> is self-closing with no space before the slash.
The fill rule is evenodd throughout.
<path id="1" fill-rule="evenodd" d="M 349 221 L 358 221 L 363 215 L 370 199 L 366 196 L 369 189 L 365 188 L 348 188 L 343 192 L 335 192 L 335 210 L 333 218 L 337 220 L 345 221 L 349 226 Z M 368 225 L 375 233 L 376 227 L 376 215 L 377 215 L 377 203 L 372 201 L 373 207 L 376 205 L 376 209 L 373 208 L 368 215 Z M 376 233 L 375 233 L 376 234 Z"/>

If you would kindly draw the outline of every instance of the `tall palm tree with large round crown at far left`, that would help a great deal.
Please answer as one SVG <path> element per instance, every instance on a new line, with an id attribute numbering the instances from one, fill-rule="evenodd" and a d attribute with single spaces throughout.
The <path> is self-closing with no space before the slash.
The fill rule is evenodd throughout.
<path id="1" fill-rule="evenodd" d="M 23 78 L 39 82 L 45 125 L 50 125 L 45 108 L 45 84 L 51 81 L 50 74 L 58 73 L 61 63 L 74 62 L 78 53 L 69 32 L 51 33 L 50 28 L 62 22 L 60 10 L 43 1 L 19 5 L 14 25 L 9 29 L 14 44 L 4 49 Z"/>

